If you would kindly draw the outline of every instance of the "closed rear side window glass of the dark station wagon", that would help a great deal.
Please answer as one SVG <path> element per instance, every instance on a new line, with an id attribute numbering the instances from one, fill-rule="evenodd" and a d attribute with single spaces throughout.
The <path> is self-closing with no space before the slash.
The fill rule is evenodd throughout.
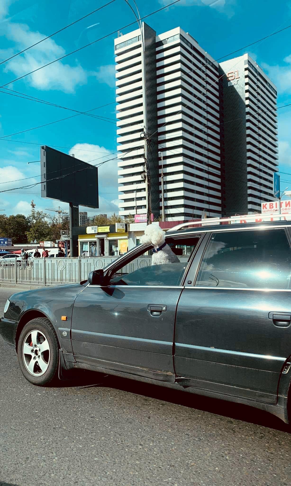
<path id="1" fill-rule="evenodd" d="M 195 286 L 289 289 L 290 278 L 284 229 L 224 231 L 211 237 Z"/>

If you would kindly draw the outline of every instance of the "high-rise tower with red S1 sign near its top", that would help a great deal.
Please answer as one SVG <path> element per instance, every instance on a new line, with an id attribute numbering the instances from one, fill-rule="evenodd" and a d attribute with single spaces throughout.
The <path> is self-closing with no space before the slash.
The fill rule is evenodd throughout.
<path id="1" fill-rule="evenodd" d="M 260 212 L 278 170 L 277 90 L 248 55 L 220 63 L 223 213 Z"/>

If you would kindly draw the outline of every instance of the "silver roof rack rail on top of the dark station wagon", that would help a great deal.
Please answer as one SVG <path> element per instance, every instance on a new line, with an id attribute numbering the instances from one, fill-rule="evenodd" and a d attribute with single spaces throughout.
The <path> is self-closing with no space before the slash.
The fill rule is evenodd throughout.
<path id="1" fill-rule="evenodd" d="M 169 228 L 166 232 L 178 231 L 186 227 L 204 227 L 204 226 L 219 226 L 219 225 L 242 225 L 246 223 L 270 223 L 274 221 L 291 221 L 291 213 L 279 214 L 247 214 L 225 217 L 225 218 L 204 218 L 196 221 L 185 221 L 173 228 Z"/>

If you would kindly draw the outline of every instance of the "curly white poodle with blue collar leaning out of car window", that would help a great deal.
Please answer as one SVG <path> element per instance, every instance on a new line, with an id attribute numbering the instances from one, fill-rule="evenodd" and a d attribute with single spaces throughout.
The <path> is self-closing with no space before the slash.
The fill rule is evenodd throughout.
<path id="1" fill-rule="evenodd" d="M 177 255 L 172 252 L 169 245 L 165 243 L 165 233 L 158 225 L 146 226 L 145 234 L 141 236 L 140 242 L 142 244 L 152 244 L 154 246 L 152 265 L 178 263 L 180 261 Z"/>

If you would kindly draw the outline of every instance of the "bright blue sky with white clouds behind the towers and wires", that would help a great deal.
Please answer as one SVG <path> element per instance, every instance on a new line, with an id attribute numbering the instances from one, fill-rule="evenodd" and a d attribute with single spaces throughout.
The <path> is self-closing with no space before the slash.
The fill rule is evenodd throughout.
<path id="1" fill-rule="evenodd" d="M 65 25 L 95 10 L 108 0 L 1 0 L 0 62 Z M 141 16 L 157 10 L 171 0 L 137 0 Z M 115 0 L 99 12 L 83 19 L 24 54 L 0 65 L 0 86 L 42 66 L 65 53 L 74 51 L 134 20 L 124 0 Z M 180 0 L 146 19 L 157 31 L 180 26 L 194 36 L 215 59 L 291 24 L 291 2 L 272 0 Z M 86 111 L 114 103 L 114 54 L 110 35 L 63 61 L 41 69 L 7 88 L 41 98 L 54 104 Z M 278 88 L 278 106 L 291 103 L 291 29 L 242 50 L 249 52 L 269 74 Z M 240 55 L 236 54 L 236 55 Z M 231 58 L 226 57 L 227 58 Z M 4 91 L 1 89 L 1 91 Z M 19 187 L 33 177 L 40 180 L 39 145 L 61 146 L 67 153 L 89 161 L 116 152 L 115 105 L 109 104 L 92 113 L 107 117 L 101 121 L 80 115 L 47 127 L 0 139 L 0 190 Z M 0 137 L 56 121 L 73 114 L 70 111 L 0 93 Z M 291 174 L 291 106 L 278 111 L 280 170 Z M 17 140 L 17 142 L 15 141 Z M 20 143 L 30 142 L 30 143 Z M 33 145 L 38 144 L 38 145 Z M 110 157 L 112 158 L 112 157 Z M 100 158 L 105 160 L 104 158 Z M 97 162 L 94 162 L 97 163 Z M 288 186 L 291 175 L 281 175 L 281 187 Z M 99 170 L 99 210 L 90 214 L 117 211 L 117 161 Z M 33 198 L 36 209 L 52 208 L 59 202 L 42 199 L 40 186 L 29 190 L 0 193 L 0 208 L 6 214 L 28 214 Z M 65 204 L 61 204 L 63 208 Z"/>

